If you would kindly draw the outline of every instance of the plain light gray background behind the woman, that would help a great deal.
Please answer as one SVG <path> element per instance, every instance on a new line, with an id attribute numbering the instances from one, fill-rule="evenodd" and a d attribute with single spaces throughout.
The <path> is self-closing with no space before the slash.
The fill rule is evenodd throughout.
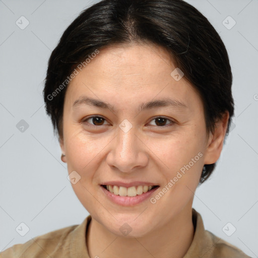
<path id="1" fill-rule="evenodd" d="M 236 114 L 218 166 L 197 189 L 193 207 L 206 229 L 258 257 L 258 1 L 187 2 L 209 19 L 227 47 Z M 60 160 L 42 89 L 49 55 L 62 32 L 92 3 L 0 0 L 0 250 L 80 224 L 88 215 Z M 29 21 L 23 30 L 16 25 L 21 16 Z M 228 16 L 236 21 L 231 29 Z M 24 132 L 16 127 L 21 119 L 29 125 Z M 22 222 L 29 227 L 25 236 L 16 231 Z M 236 228 L 231 236 L 222 230 L 228 222 Z"/>

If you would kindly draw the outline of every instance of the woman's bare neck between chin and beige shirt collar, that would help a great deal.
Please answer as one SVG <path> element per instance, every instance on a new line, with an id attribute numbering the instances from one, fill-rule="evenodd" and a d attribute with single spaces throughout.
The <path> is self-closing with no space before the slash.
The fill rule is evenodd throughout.
<path id="1" fill-rule="evenodd" d="M 86 239 L 90 257 L 183 258 L 194 233 L 191 206 L 186 205 L 168 224 L 137 238 L 107 232 L 92 218 Z"/>

